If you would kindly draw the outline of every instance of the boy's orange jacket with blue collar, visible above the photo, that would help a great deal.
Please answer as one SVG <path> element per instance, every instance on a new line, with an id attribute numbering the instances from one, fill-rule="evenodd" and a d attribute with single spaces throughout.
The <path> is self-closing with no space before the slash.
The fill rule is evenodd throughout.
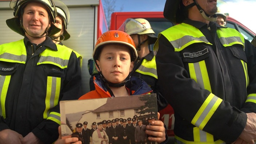
<path id="1" fill-rule="evenodd" d="M 99 99 L 111 97 L 100 75 L 94 76 L 94 85 L 95 90 L 84 94 L 79 99 Z M 131 79 L 125 84 L 125 87 L 130 95 L 145 95 L 152 92 L 152 89 L 148 87 L 145 81 L 133 76 L 131 76 Z"/>

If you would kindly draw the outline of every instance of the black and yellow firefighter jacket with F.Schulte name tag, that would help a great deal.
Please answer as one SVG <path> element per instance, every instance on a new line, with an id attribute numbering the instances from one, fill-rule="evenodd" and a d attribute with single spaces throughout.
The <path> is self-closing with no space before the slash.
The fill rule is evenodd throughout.
<path id="1" fill-rule="evenodd" d="M 154 45 L 177 143 L 232 143 L 256 112 L 256 49 L 235 29 L 185 20 Z"/>

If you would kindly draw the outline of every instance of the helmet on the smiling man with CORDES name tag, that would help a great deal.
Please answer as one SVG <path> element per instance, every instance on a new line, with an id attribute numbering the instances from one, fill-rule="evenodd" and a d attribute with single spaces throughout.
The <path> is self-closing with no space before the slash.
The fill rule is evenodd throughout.
<path id="1" fill-rule="evenodd" d="M 28 3 L 35 2 L 35 3 L 41 3 L 45 5 L 47 8 L 49 19 L 55 23 L 55 18 L 57 16 L 56 7 L 51 0 L 51 3 L 48 0 L 11 0 L 10 2 L 10 8 L 14 9 L 13 17 L 12 19 L 6 20 L 6 24 L 9 28 L 11 28 L 13 31 L 19 33 L 20 35 L 25 35 L 25 31 L 23 29 L 22 23 L 20 22 L 20 17 L 23 14 L 22 9 L 25 5 Z M 55 33 L 59 32 L 61 29 L 58 29 L 56 27 L 51 27 L 49 31 L 53 31 Z"/>

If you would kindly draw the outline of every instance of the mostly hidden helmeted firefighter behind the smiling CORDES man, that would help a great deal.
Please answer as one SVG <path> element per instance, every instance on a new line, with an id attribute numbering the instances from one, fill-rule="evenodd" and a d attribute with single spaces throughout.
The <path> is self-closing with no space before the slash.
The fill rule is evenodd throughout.
<path id="1" fill-rule="evenodd" d="M 60 0 L 53 0 L 56 10 L 57 10 L 57 17 L 54 26 L 61 29 L 60 32 L 52 34 L 49 33 L 53 43 L 63 45 L 63 40 L 68 40 L 70 35 L 67 31 L 67 26 L 69 23 L 69 10 L 68 7 Z M 73 50 L 76 53 L 76 56 L 80 62 L 80 67 L 82 67 L 82 56 Z"/>

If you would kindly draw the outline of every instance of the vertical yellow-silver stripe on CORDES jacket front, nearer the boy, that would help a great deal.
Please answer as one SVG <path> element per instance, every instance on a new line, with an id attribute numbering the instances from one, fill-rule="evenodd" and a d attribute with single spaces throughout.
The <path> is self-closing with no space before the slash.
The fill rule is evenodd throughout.
<path id="1" fill-rule="evenodd" d="M 60 96 L 60 77 L 47 77 L 47 90 L 45 97 L 44 119 L 47 119 L 50 109 L 58 104 Z"/>

